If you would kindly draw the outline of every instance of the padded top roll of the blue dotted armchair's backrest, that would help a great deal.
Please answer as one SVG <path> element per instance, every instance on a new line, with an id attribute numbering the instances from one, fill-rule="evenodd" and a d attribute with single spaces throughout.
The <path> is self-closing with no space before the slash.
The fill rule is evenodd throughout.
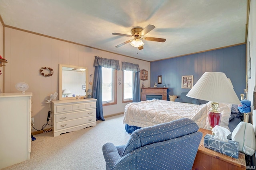
<path id="1" fill-rule="evenodd" d="M 124 147 L 122 156 L 152 143 L 174 139 L 198 131 L 198 125 L 188 118 L 182 118 L 160 125 L 134 131 Z"/>

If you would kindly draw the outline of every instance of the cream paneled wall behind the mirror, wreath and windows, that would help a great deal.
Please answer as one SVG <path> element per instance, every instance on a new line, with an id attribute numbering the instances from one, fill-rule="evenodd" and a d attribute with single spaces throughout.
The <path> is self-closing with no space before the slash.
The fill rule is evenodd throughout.
<path id="1" fill-rule="evenodd" d="M 60 41 L 49 37 L 36 35 L 5 27 L 5 58 L 8 60 L 4 79 L 4 93 L 17 92 L 15 84 L 26 82 L 29 85 L 28 92 L 33 93 L 32 97 L 32 117 L 34 117 L 34 127 L 41 129 L 46 123 L 49 104 L 45 104 L 50 94 L 58 92 L 58 64 L 69 64 L 88 68 L 88 74 L 94 74 L 94 56 L 108 59 L 116 59 L 121 62 L 139 64 L 140 69 L 150 71 L 150 63 L 116 55 L 97 49 L 76 45 L 66 41 Z M 134 49 L 136 50 L 136 49 Z M 53 76 L 44 77 L 39 74 L 42 66 L 48 66 L 54 70 Z M 117 72 L 117 77 L 122 79 L 122 71 Z M 150 75 L 148 76 L 150 77 Z M 92 75 L 92 80 L 94 76 Z M 146 82 L 146 84 L 145 84 Z M 150 80 L 145 81 L 145 86 L 149 86 Z M 141 82 L 142 84 L 142 82 Z M 92 86 L 89 85 L 90 88 Z M 104 106 L 104 116 L 114 115 L 124 112 L 122 103 L 122 81 L 117 84 L 117 104 Z M 57 97 L 58 99 L 58 97 Z"/>

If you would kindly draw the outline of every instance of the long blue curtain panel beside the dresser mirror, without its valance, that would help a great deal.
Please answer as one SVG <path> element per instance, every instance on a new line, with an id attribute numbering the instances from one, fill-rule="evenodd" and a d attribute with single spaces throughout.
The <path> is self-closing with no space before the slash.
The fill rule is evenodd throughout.
<path id="1" fill-rule="evenodd" d="M 103 116 L 102 108 L 102 66 L 95 66 L 94 81 L 93 81 L 93 93 L 92 98 L 97 99 L 96 102 L 96 118 L 97 120 L 105 120 Z"/>

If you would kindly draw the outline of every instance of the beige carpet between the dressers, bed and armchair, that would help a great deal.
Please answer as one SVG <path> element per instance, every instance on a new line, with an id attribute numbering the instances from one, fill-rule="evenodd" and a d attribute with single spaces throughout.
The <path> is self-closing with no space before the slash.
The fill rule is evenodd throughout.
<path id="1" fill-rule="evenodd" d="M 53 137 L 52 132 L 34 135 L 30 160 L 3 170 L 104 170 L 102 145 L 125 145 L 130 137 L 122 121 L 123 114 L 58 137 Z"/>

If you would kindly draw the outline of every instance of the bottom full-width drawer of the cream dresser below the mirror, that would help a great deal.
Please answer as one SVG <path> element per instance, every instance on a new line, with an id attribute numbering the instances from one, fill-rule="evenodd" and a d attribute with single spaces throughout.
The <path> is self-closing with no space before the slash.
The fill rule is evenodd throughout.
<path id="1" fill-rule="evenodd" d="M 91 123 L 91 122 L 95 122 L 95 121 L 96 121 L 95 116 L 89 116 L 89 117 L 83 117 L 83 118 L 79 118 L 79 119 L 62 121 L 62 122 L 56 123 L 56 130 L 64 129 L 64 128 L 68 128 L 68 127 L 72 127 L 72 126 L 77 126 L 77 125 L 82 125 L 85 123 Z"/>

